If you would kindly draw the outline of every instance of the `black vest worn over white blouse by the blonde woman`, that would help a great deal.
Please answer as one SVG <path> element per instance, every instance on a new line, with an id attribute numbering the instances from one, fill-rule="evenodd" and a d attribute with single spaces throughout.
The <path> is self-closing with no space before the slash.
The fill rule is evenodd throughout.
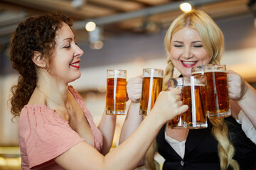
<path id="1" fill-rule="evenodd" d="M 241 125 L 231 116 L 225 118 L 228 123 L 230 141 L 235 147 L 233 159 L 238 161 L 240 169 L 252 170 L 256 168 L 256 145 L 246 137 Z M 163 126 L 156 137 L 158 152 L 166 161 L 163 170 L 171 169 L 220 169 L 218 158 L 218 141 L 211 135 L 213 125 L 208 120 L 208 128 L 189 130 L 185 144 L 185 155 L 182 159 L 164 139 Z"/>

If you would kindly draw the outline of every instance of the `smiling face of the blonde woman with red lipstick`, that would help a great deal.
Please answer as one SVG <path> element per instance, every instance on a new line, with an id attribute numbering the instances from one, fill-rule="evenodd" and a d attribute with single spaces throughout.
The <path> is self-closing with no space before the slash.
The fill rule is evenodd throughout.
<path id="1" fill-rule="evenodd" d="M 210 55 L 203 47 L 200 35 L 192 28 L 182 28 L 171 38 L 171 62 L 183 77 L 191 76 L 191 68 L 210 62 Z"/>

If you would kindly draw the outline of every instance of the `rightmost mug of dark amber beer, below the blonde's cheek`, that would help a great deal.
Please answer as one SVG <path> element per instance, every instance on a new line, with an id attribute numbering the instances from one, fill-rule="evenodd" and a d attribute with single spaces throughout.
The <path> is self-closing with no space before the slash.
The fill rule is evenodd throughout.
<path id="1" fill-rule="evenodd" d="M 225 65 L 206 67 L 206 109 L 209 118 L 225 118 L 231 115 L 228 97 L 228 81 Z"/>

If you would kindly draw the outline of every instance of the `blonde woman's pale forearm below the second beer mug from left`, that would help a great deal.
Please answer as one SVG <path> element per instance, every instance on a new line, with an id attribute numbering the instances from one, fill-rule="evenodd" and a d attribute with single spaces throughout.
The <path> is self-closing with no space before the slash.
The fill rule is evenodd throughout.
<path id="1" fill-rule="evenodd" d="M 139 115 L 139 103 L 131 102 L 127 116 L 122 126 L 119 144 L 124 142 L 142 123 L 143 117 Z"/>

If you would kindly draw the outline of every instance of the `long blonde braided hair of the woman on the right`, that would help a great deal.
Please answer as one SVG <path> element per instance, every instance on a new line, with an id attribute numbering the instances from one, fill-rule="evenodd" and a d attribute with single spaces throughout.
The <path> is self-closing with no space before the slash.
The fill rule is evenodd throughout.
<path id="1" fill-rule="evenodd" d="M 224 52 L 224 37 L 223 33 L 218 28 L 207 13 L 200 10 L 193 10 L 188 13 L 183 13 L 178 16 L 172 23 L 164 38 L 164 45 L 166 48 L 167 67 L 164 74 L 163 89 L 167 90 L 167 82 L 171 77 L 174 77 L 174 64 L 171 62 L 171 38 L 178 30 L 182 28 L 193 28 L 198 31 L 203 47 L 210 55 L 210 63 L 220 64 L 220 59 Z M 210 119 L 213 124 L 212 134 L 218 140 L 218 156 L 220 159 L 220 169 L 228 169 L 232 166 L 233 169 L 239 169 L 238 163 L 233 159 L 235 149 L 228 139 L 228 126 L 223 119 Z M 151 145 L 153 147 L 154 145 Z M 155 145 L 156 146 L 156 145 Z M 149 149 L 149 151 L 156 151 L 156 149 Z M 151 154 L 155 154 L 152 153 Z M 152 157 L 152 156 L 151 156 Z M 152 164 L 149 155 L 146 155 L 146 166 L 148 169 L 156 169 Z M 151 166 L 148 166 L 150 165 Z"/>

